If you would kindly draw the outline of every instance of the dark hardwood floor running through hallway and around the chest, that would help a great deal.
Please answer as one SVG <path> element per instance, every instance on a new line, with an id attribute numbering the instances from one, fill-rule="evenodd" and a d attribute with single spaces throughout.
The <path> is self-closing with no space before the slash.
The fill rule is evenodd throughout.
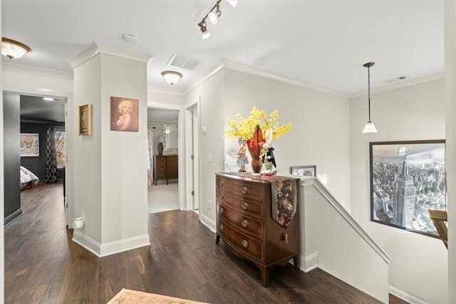
<path id="1" fill-rule="evenodd" d="M 207 303 L 378 303 L 333 276 L 259 269 L 234 256 L 192 211 L 149 214 L 151 246 L 97 258 L 71 241 L 62 184 L 21 192 L 24 215 L 5 228 L 6 303 L 107 303 L 122 288 Z M 390 295 L 390 303 L 405 303 Z"/>

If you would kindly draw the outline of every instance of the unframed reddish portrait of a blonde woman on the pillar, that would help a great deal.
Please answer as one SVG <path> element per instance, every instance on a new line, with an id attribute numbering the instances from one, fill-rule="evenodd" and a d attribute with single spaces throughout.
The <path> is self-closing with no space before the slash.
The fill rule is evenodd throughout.
<path id="1" fill-rule="evenodd" d="M 139 100 L 111 96 L 112 131 L 138 132 Z"/>

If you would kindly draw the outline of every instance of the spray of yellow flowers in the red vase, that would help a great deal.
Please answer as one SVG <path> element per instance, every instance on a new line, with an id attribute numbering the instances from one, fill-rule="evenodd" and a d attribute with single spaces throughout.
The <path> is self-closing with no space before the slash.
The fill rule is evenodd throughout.
<path id="1" fill-rule="evenodd" d="M 257 107 L 252 108 L 249 117 L 244 118 L 242 115 L 237 113 L 236 118 L 237 122 L 234 120 L 227 120 L 227 123 L 231 129 L 225 130 L 225 137 L 229 139 L 241 137 L 243 140 L 251 140 L 254 136 L 254 130 L 259 126 L 261 132 L 263 133 L 262 137 L 266 137 L 267 130 L 272 130 L 272 140 L 286 135 L 286 133 L 291 130 L 291 123 L 286 125 L 279 125 L 279 122 L 276 122 L 280 117 L 279 111 L 274 110 L 266 116 L 264 111 L 259 110 Z"/>

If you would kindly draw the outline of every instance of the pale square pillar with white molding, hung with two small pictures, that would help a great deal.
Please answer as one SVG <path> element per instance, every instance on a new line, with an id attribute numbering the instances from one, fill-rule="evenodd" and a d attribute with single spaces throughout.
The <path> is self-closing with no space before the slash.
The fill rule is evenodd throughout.
<path id="1" fill-rule="evenodd" d="M 73 241 L 97 256 L 149 245 L 147 235 L 147 58 L 93 43 L 71 59 L 75 106 L 93 105 L 93 135 L 74 141 L 75 209 L 85 226 Z M 111 97 L 138 100 L 138 132 L 110 130 Z"/>

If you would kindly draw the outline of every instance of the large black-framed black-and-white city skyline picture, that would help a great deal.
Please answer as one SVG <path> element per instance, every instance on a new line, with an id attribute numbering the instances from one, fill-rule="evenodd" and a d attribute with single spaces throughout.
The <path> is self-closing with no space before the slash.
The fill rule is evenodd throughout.
<path id="1" fill-rule="evenodd" d="M 370 142 L 371 221 L 438 238 L 446 210 L 445 140 Z"/>

